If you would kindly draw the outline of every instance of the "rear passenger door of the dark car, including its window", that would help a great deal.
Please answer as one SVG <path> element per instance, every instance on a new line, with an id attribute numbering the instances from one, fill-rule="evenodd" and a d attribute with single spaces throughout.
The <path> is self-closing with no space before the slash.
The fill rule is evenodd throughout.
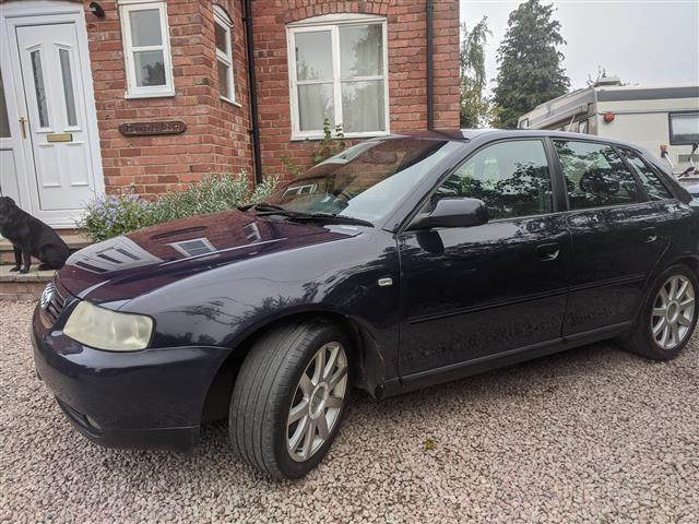
<path id="1" fill-rule="evenodd" d="M 572 237 L 564 336 L 633 320 L 645 282 L 667 246 L 663 213 L 609 144 L 553 139 Z"/>

